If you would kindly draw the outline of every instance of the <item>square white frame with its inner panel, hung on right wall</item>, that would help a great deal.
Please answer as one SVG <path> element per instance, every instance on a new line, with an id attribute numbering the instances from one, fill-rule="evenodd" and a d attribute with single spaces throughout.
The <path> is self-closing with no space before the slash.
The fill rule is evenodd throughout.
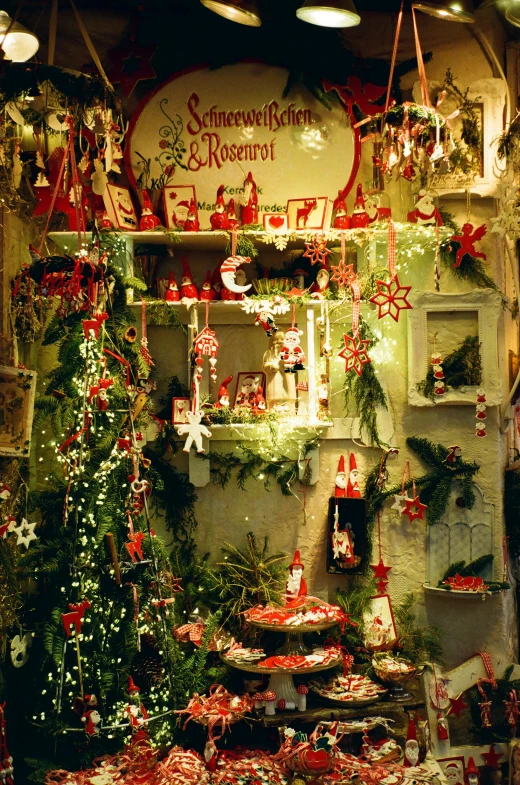
<path id="1" fill-rule="evenodd" d="M 496 338 L 502 311 L 500 294 L 492 289 L 460 294 L 412 292 L 410 302 L 413 308 L 408 311 L 408 403 L 412 406 L 475 406 L 477 390 L 482 388 L 487 406 L 500 404 L 502 380 L 498 371 Z M 444 393 L 435 394 L 437 382 L 432 379 L 431 372 L 428 376 L 433 368 L 432 355 L 438 353 L 442 360 L 463 351 L 464 346 L 467 347 L 465 356 L 469 369 L 467 383 L 452 388 L 446 380 Z M 470 352 L 477 353 L 478 365 L 469 362 Z M 470 373 L 471 369 L 476 373 Z"/>

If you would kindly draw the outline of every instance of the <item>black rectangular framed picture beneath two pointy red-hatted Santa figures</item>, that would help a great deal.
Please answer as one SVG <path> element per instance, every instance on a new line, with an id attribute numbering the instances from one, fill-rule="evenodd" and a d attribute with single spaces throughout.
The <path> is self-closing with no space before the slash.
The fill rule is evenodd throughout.
<path id="1" fill-rule="evenodd" d="M 327 572 L 362 572 L 367 555 L 365 499 L 329 499 Z"/>

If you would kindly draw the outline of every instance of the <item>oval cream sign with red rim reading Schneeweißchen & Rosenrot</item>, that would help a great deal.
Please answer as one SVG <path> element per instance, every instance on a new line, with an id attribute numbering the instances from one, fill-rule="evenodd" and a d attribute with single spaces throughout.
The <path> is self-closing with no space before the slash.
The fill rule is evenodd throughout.
<path id="1" fill-rule="evenodd" d="M 258 223 L 265 213 L 285 213 L 289 199 L 327 196 L 330 213 L 338 191 L 355 181 L 359 132 L 339 102 L 329 110 L 302 86 L 283 97 L 287 76 L 258 62 L 172 76 L 132 119 L 125 152 L 131 184 L 148 190 L 192 184 L 201 229 L 210 228 L 220 185 L 226 204 L 247 201 L 249 172 Z M 326 226 L 329 220 L 330 214 Z"/>

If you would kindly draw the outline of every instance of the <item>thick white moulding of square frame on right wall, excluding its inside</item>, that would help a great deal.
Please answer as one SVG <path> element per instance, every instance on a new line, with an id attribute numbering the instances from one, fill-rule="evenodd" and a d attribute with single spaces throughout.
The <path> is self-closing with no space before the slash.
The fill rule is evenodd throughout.
<path id="1" fill-rule="evenodd" d="M 408 403 L 411 406 L 476 405 L 477 389 L 486 393 L 486 405 L 497 406 L 502 402 L 502 382 L 498 371 L 497 329 L 502 300 L 493 289 L 476 289 L 458 294 L 412 291 L 412 309 L 408 311 Z M 454 312 L 475 312 L 478 319 L 482 378 L 477 386 L 447 389 L 435 400 L 427 398 L 417 389 L 424 381 L 430 367 L 428 347 L 428 314 L 441 314 L 446 318 Z M 437 348 L 443 353 L 442 346 Z"/>

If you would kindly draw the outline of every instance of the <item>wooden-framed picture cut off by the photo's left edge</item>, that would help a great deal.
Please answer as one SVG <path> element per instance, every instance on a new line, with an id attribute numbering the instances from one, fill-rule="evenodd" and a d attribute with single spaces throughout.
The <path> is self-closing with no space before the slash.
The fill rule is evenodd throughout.
<path id="1" fill-rule="evenodd" d="M 36 371 L 0 366 L 0 455 L 29 455 Z"/>

